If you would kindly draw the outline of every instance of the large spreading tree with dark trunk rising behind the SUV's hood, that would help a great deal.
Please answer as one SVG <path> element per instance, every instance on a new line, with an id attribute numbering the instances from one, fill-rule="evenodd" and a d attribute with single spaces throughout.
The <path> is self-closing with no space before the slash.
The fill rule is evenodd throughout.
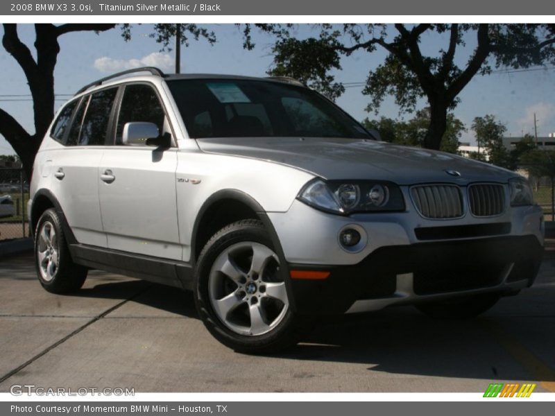
<path id="1" fill-rule="evenodd" d="M 341 58 L 355 51 L 388 53 L 384 63 L 370 70 L 364 94 L 370 95 L 368 111 L 377 111 L 387 95 L 401 110 L 412 111 L 419 98 L 425 98 L 430 119 L 424 146 L 441 148 L 447 130 L 447 112 L 459 102 L 459 94 L 477 74 L 494 67 L 530 67 L 555 62 L 554 24 L 344 24 L 319 25 L 316 37 L 299 40 L 291 35 L 291 25 L 259 24 L 262 31 L 275 36 L 273 44 L 275 75 L 293 76 L 336 98 L 344 86 L 330 74 L 341 69 Z M 252 49 L 251 26 L 245 28 L 245 47 Z M 446 38 L 446 48 L 427 56 L 420 48 L 425 36 Z M 456 51 L 470 37 L 476 47 L 466 64 L 459 67 Z"/>

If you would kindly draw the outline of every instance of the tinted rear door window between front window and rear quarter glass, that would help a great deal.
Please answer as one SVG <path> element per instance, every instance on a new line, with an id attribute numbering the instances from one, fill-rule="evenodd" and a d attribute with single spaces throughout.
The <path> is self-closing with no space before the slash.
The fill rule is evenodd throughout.
<path id="1" fill-rule="evenodd" d="M 103 146 L 106 143 L 110 112 L 116 93 L 117 88 L 110 88 L 92 94 L 81 126 L 78 145 Z"/>

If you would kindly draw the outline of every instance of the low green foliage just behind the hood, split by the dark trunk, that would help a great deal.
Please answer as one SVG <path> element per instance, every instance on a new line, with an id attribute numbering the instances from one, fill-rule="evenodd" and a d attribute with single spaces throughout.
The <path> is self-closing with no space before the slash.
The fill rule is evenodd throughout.
<path id="1" fill-rule="evenodd" d="M 425 107 L 418 110 L 413 119 L 409 121 L 395 121 L 382 116 L 379 120 L 364 119 L 362 123 L 366 128 L 377 130 L 384 141 L 423 147 L 430 117 L 429 107 Z M 465 125 L 451 113 L 447 114 L 446 125 L 440 150 L 448 153 L 458 153 L 459 139 L 462 133 L 466 131 Z"/>

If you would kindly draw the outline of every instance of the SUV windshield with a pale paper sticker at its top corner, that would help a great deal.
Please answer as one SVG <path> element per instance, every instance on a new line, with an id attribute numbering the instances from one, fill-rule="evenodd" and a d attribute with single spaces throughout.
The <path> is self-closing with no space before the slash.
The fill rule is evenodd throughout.
<path id="1" fill-rule="evenodd" d="M 372 139 L 320 94 L 257 80 L 169 80 L 189 137 L 342 137 Z"/>

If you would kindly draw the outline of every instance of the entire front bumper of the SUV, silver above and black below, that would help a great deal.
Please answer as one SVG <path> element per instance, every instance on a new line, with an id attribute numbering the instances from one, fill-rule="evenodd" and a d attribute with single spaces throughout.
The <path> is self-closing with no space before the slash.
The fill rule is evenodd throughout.
<path id="1" fill-rule="evenodd" d="M 289 279 L 293 310 L 354 313 L 456 295 L 516 293 L 530 286 L 543 256 L 540 207 L 508 208 L 494 218 L 422 218 L 411 206 L 388 214 L 337 216 L 296 200 L 268 213 L 289 270 L 325 270 L 324 280 Z M 364 247 L 341 248 L 355 226 Z"/>

